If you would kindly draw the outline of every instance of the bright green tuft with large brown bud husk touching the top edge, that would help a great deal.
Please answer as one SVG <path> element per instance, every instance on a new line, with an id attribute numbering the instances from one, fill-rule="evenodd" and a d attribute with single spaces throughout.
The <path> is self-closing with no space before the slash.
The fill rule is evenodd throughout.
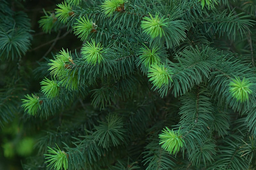
<path id="1" fill-rule="evenodd" d="M 124 10 L 124 3 L 126 2 L 126 0 L 105 0 L 100 6 L 105 16 L 107 15 L 107 17 L 109 17 L 114 11 Z"/>

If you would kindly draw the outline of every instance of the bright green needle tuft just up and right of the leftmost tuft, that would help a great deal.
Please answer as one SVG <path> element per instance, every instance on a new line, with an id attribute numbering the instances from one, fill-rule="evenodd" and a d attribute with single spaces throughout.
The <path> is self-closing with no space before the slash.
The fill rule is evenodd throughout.
<path id="1" fill-rule="evenodd" d="M 41 90 L 47 98 L 54 98 L 59 95 L 60 87 L 55 80 L 49 80 L 45 77 L 40 84 L 42 85 Z"/>

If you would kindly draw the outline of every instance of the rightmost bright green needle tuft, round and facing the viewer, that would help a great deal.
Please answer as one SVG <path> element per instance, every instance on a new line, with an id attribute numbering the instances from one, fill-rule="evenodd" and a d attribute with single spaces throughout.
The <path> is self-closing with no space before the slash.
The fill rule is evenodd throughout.
<path id="1" fill-rule="evenodd" d="M 249 94 L 252 93 L 252 90 L 250 89 L 251 85 L 252 83 L 245 78 L 241 81 L 238 77 L 235 77 L 235 79 L 232 79 L 229 83 L 229 92 L 232 97 L 235 97 L 236 100 L 240 100 L 240 102 L 243 103 L 249 99 Z"/>

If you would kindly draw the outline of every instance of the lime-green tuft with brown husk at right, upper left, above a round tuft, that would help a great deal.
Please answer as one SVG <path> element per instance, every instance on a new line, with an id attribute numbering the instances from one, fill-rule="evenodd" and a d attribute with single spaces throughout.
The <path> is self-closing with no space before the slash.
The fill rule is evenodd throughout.
<path id="1" fill-rule="evenodd" d="M 78 35 L 78 38 L 81 38 L 81 40 L 84 41 L 93 29 L 92 19 L 89 20 L 88 16 L 86 15 L 86 19 L 83 17 L 76 20 L 78 22 L 75 23 L 76 26 L 73 27 L 75 29 L 74 34 Z"/>

